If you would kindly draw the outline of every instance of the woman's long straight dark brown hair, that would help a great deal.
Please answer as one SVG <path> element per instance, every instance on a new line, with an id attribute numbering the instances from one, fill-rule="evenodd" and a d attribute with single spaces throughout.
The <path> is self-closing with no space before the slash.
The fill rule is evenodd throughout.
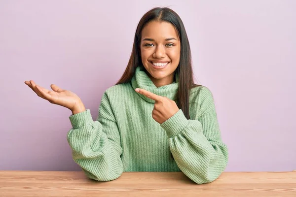
<path id="1" fill-rule="evenodd" d="M 178 31 L 178 36 L 181 42 L 181 54 L 180 54 L 180 63 L 175 70 L 179 74 L 179 87 L 176 95 L 177 105 L 182 109 L 185 117 L 190 119 L 189 116 L 189 94 L 191 88 L 200 86 L 194 84 L 193 80 L 193 71 L 191 65 L 191 51 L 189 46 L 188 37 L 185 31 L 184 24 L 179 17 L 179 15 L 170 8 L 167 7 L 156 7 L 149 10 L 140 20 L 134 38 L 133 49 L 131 57 L 129 59 L 128 65 L 122 74 L 121 78 L 115 84 L 127 83 L 130 82 L 136 67 L 142 64 L 141 55 L 140 55 L 140 43 L 141 43 L 141 33 L 143 28 L 151 21 L 158 22 L 169 22 L 171 23 Z"/>

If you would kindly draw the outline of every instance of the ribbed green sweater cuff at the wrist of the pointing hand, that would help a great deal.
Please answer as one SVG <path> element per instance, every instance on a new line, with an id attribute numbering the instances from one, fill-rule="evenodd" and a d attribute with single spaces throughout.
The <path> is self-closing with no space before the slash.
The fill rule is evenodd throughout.
<path id="1" fill-rule="evenodd" d="M 164 121 L 160 126 L 167 132 L 168 137 L 174 137 L 187 127 L 189 121 L 182 109 L 179 109 L 171 118 Z"/>

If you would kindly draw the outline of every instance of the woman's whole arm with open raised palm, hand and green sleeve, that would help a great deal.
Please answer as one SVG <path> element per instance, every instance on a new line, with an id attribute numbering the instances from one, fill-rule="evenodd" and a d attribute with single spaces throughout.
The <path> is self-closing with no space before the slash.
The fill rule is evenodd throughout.
<path id="1" fill-rule="evenodd" d="M 33 80 L 25 81 L 25 84 L 38 97 L 72 111 L 73 115 L 69 118 L 73 128 L 68 132 L 67 140 L 75 163 L 86 176 L 98 181 L 110 181 L 122 174 L 120 135 L 106 92 L 101 99 L 98 118 L 93 121 L 90 110 L 85 110 L 81 99 L 73 92 L 55 84 L 50 86 L 52 91 L 47 90 Z"/>

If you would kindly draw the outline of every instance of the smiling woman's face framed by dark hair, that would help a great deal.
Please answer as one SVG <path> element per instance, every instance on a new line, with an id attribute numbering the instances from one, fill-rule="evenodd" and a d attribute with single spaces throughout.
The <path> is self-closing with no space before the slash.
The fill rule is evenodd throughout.
<path id="1" fill-rule="evenodd" d="M 171 84 L 180 62 L 181 43 L 168 22 L 149 22 L 142 30 L 141 59 L 156 87 Z"/>

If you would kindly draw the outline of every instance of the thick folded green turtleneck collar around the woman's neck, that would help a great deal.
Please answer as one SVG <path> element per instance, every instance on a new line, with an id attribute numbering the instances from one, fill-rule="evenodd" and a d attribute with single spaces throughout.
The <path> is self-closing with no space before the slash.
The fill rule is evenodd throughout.
<path id="1" fill-rule="evenodd" d="M 136 88 L 141 88 L 144 90 L 147 90 L 151 93 L 154 93 L 155 95 L 159 95 L 162 97 L 167 97 L 171 100 L 175 100 L 175 96 L 178 91 L 179 87 L 179 77 L 178 74 L 176 75 L 176 81 L 174 81 L 171 84 L 156 87 L 154 83 L 151 81 L 147 73 L 145 72 L 144 66 L 138 66 L 136 68 L 135 74 L 131 80 L 132 87 L 134 90 Z M 136 91 L 135 91 L 136 92 Z M 137 93 L 137 92 L 136 92 Z M 144 95 L 141 95 L 140 93 L 137 93 L 142 99 L 154 103 L 155 101 L 152 99 L 147 98 Z M 176 100 L 175 100 L 176 101 Z"/>

